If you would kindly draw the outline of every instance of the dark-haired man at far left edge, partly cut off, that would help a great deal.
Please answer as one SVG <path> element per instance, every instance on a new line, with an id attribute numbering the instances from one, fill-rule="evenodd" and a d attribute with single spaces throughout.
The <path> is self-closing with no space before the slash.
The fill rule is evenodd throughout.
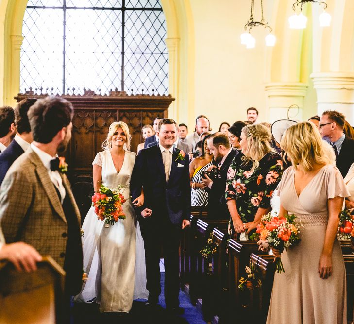
<path id="1" fill-rule="evenodd" d="M 0 153 L 11 143 L 16 134 L 15 112 L 12 107 L 0 107 Z"/>

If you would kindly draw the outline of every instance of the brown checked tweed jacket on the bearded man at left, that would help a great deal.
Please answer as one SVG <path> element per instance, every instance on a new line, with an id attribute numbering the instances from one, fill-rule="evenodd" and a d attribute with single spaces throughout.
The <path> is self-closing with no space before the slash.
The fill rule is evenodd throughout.
<path id="1" fill-rule="evenodd" d="M 80 228 L 70 184 L 66 175 L 61 176 Z M 64 266 L 67 220 L 48 170 L 31 148 L 12 164 L 2 182 L 0 224 L 7 243 L 24 241 Z"/>

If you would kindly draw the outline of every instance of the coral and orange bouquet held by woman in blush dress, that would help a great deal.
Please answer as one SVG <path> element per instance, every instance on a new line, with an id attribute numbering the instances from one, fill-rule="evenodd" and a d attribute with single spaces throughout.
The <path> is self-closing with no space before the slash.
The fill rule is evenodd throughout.
<path id="1" fill-rule="evenodd" d="M 295 215 L 277 217 L 269 212 L 262 217 L 261 222 L 257 225 L 256 233 L 251 236 L 251 239 L 267 241 L 271 248 L 283 252 L 284 249 L 300 240 L 300 229 L 295 224 L 295 218 Z M 285 272 L 280 257 L 276 257 L 274 262 L 277 273 Z"/>

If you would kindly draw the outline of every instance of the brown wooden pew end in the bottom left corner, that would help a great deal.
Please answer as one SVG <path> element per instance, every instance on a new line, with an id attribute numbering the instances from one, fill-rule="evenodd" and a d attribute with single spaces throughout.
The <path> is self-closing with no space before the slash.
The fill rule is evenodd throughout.
<path id="1" fill-rule="evenodd" d="M 37 271 L 18 272 L 9 262 L 0 265 L 0 323 L 59 323 L 65 271 L 50 257 Z"/>

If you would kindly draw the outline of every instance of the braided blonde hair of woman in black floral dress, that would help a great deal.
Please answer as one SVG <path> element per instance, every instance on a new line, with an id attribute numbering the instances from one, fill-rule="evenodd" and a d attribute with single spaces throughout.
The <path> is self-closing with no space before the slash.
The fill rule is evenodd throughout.
<path id="1" fill-rule="evenodd" d="M 259 167 L 259 161 L 265 154 L 276 153 L 270 146 L 272 136 L 268 127 L 262 124 L 247 125 L 242 128 L 242 133 L 247 140 L 247 150 L 242 152 L 245 155 L 242 159 L 252 161 L 252 169 Z"/>

